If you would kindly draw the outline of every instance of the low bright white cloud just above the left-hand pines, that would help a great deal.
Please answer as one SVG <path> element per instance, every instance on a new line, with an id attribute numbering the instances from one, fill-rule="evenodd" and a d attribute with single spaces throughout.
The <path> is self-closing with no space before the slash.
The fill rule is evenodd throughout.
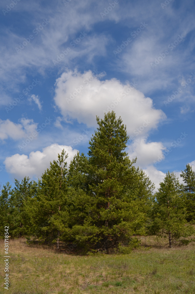
<path id="1" fill-rule="evenodd" d="M 49 168 L 50 161 L 57 160 L 58 153 L 60 154 L 63 149 L 66 154 L 68 153 L 67 166 L 69 166 L 78 150 L 73 150 L 70 146 L 52 144 L 43 148 L 42 152 L 31 152 L 29 156 L 17 153 L 6 157 L 4 161 L 6 171 L 17 179 L 22 179 L 24 176 L 40 178 L 42 173 Z"/>

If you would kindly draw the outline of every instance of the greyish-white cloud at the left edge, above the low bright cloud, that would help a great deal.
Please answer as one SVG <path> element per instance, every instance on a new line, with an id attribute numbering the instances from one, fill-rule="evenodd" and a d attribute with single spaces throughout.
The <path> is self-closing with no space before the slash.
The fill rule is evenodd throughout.
<path id="1" fill-rule="evenodd" d="M 20 123 L 13 123 L 9 119 L 0 119 L 0 139 L 5 140 L 11 138 L 18 140 L 26 137 L 28 134 L 35 132 L 37 123 L 33 119 L 20 119 Z"/>

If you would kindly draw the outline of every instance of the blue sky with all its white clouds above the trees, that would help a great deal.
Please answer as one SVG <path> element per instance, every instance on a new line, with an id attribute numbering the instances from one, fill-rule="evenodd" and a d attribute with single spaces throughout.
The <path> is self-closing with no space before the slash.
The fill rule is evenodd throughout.
<path id="1" fill-rule="evenodd" d="M 194 1 L 2 0 L 1 183 L 87 155 L 114 110 L 156 187 L 195 170 Z"/>

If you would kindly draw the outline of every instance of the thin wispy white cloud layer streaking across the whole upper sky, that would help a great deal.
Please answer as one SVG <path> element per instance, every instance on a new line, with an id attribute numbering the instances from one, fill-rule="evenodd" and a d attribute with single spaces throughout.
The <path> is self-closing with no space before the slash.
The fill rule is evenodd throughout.
<path id="1" fill-rule="evenodd" d="M 107 4 L 109 6 L 109 3 Z M 71 47 L 72 51 L 60 62 L 60 66 L 61 64 L 69 64 L 75 57 L 83 58 L 85 56 L 85 61 L 91 61 L 94 56 L 105 56 L 106 52 L 110 55 L 113 50 L 111 52 L 106 51 L 106 45 L 111 39 L 110 36 L 99 34 L 99 32 L 96 34 L 90 32 L 94 29 L 94 24 L 110 20 L 114 22 L 123 21 L 123 25 L 129 28 L 129 37 L 131 37 L 130 33 L 140 26 L 141 22 L 145 21 L 147 24 L 146 29 L 135 40 L 132 38 L 133 42 L 120 54 L 118 67 L 113 60 L 114 70 L 121 69 L 127 71 L 128 74 L 133 73 L 137 79 L 141 77 L 139 86 L 142 91 L 144 91 L 143 89 L 151 91 L 151 88 L 164 88 L 164 86 L 170 84 L 173 80 L 172 73 L 175 66 L 183 66 L 182 61 L 193 50 L 193 39 L 189 41 L 182 56 L 178 57 L 176 51 L 173 51 L 174 55 L 170 58 L 171 54 L 167 56 L 165 62 L 161 62 L 158 72 L 151 69 L 150 62 L 167 49 L 168 44 L 173 42 L 178 34 L 181 34 L 181 32 L 187 34 L 194 30 L 193 14 L 189 14 L 187 19 L 181 17 L 179 25 L 177 22 L 178 13 L 185 15 L 182 12 L 186 11 L 190 4 L 181 4 L 176 10 L 172 9 L 170 4 L 166 8 L 166 13 L 164 13 L 165 10 L 158 3 L 151 3 L 150 6 L 142 3 L 142 9 L 140 9 L 140 3 L 132 5 L 130 2 L 125 4 L 120 2 L 102 19 L 100 12 L 108 7 L 107 4 L 105 5 L 103 0 L 91 0 L 90 3 L 88 0 L 74 0 L 66 6 L 61 0 L 58 0 L 53 3 L 50 1 L 49 5 L 44 7 L 41 1 L 33 1 L 23 5 L 21 5 L 21 2 L 18 3 L 12 12 L 28 13 L 30 33 L 42 23 L 43 19 L 47 19 L 49 23 L 38 35 L 32 33 L 34 39 L 19 52 L 20 54 L 16 53 L 15 48 L 19 46 L 20 42 L 24 42 L 24 37 L 28 38 L 29 35 L 18 34 L 11 26 L 2 28 L 4 32 L 2 44 L 5 45 L 2 46 L 0 56 L 0 63 L 3 68 L 0 72 L 2 74 L 1 80 L 9 83 L 9 88 L 11 88 L 19 82 L 25 83 L 29 67 L 37 67 L 39 73 L 42 74 L 46 68 L 51 69 L 53 67 L 52 60 L 56 59 L 57 54 L 61 54 L 61 51 L 70 46 L 70 42 L 80 35 L 81 28 L 87 32 L 87 37 L 77 47 Z M 5 9 L 7 0 L 1 1 L 0 5 L 2 9 Z M 9 14 L 12 12 L 9 12 Z M 171 25 L 170 22 L 167 22 L 167 13 L 171 19 Z M 175 36 L 173 36 L 173 30 L 168 29 L 170 26 L 175 30 Z M 116 47 L 118 45 L 120 44 L 116 44 Z M 110 49 L 110 47 L 108 48 Z M 190 59 L 188 62 L 188 65 L 192 64 L 190 64 Z M 168 74 L 167 66 L 169 71 L 172 69 L 170 74 Z"/>

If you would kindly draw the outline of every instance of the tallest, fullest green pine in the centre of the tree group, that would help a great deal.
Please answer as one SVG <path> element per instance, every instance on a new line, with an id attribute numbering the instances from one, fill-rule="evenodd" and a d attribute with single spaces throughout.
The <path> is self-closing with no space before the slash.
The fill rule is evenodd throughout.
<path id="1" fill-rule="evenodd" d="M 82 224 L 73 226 L 72 232 L 88 247 L 107 252 L 129 240 L 143 217 L 130 196 L 138 175 L 135 160 L 130 161 L 125 152 L 126 126 L 113 111 L 105 114 L 104 120 L 97 117 L 97 123 L 98 129 L 89 142 L 90 198 L 82 208 Z"/>

